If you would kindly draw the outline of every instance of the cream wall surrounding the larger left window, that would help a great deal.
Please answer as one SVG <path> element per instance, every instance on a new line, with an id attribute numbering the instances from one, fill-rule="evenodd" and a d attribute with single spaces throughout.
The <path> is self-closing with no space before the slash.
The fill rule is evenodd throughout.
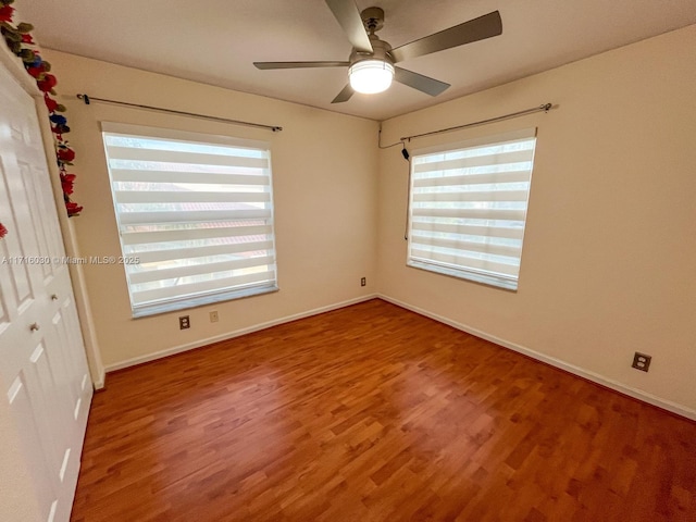
<path id="1" fill-rule="evenodd" d="M 376 274 L 377 124 L 353 116 L 234 92 L 159 74 L 46 50 L 69 111 L 77 158 L 71 220 L 82 256 L 117 256 L 116 223 L 100 122 L 124 122 L 224 134 L 272 144 L 276 250 L 281 290 L 186 312 L 134 320 L 123 266 L 86 265 L 84 273 L 107 369 L 148 360 L 374 293 Z M 76 100 L 77 92 L 235 120 L 281 125 L 271 133 L 152 111 Z M 368 286 L 360 287 L 360 277 Z M 220 322 L 210 323 L 217 310 Z M 191 327 L 179 331 L 178 315 Z"/>

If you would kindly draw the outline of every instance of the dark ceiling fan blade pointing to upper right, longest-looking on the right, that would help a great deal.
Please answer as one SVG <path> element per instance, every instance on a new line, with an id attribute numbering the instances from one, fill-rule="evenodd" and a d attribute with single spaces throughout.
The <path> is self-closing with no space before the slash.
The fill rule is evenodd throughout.
<path id="1" fill-rule="evenodd" d="M 472 41 L 484 40 L 502 34 L 500 12 L 484 14 L 449 29 L 440 30 L 420 40 L 411 41 L 396 49 L 391 49 L 395 62 L 410 58 L 422 57 L 432 52 L 444 51 L 452 47 L 463 46 Z"/>

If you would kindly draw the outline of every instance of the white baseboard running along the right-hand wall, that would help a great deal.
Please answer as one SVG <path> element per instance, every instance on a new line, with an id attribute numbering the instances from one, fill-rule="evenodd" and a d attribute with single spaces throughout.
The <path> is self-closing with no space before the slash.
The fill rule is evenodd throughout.
<path id="1" fill-rule="evenodd" d="M 691 408 L 686 408 L 685 406 L 679 405 L 676 402 L 672 402 L 670 400 L 664 400 L 660 397 L 656 397 L 651 394 L 647 394 L 641 389 L 636 389 L 633 388 L 631 386 L 626 386 L 618 381 L 613 381 L 611 378 L 607 378 L 600 374 L 594 373 L 594 372 L 589 372 L 587 370 L 584 370 L 580 366 L 575 366 L 573 364 L 569 364 L 568 362 L 564 362 L 560 359 L 556 359 L 555 357 L 549 357 L 546 356 L 544 353 L 539 353 L 538 351 L 532 350 L 530 348 L 526 348 L 524 346 L 518 345 L 515 343 L 511 343 L 509 340 L 506 339 L 501 339 L 499 337 L 496 337 L 495 335 L 490 335 L 487 334 L 485 332 L 482 332 L 480 330 L 473 328 L 469 325 L 465 324 L 461 324 L 458 323 L 457 321 L 452 321 L 451 319 L 445 318 L 443 315 L 438 315 L 436 313 L 433 312 L 428 312 L 427 310 L 424 310 L 422 308 L 419 307 L 414 307 L 412 304 L 409 304 L 408 302 L 403 302 L 400 301 L 398 299 L 394 299 L 391 297 L 388 296 L 384 296 L 384 295 L 377 295 L 376 297 L 378 297 L 380 299 L 383 299 L 387 302 L 390 302 L 393 304 L 396 304 L 398 307 L 405 308 L 407 310 L 410 310 L 412 312 L 415 312 L 420 315 L 424 315 L 426 318 L 433 319 L 439 323 L 443 324 L 447 324 L 448 326 L 451 326 L 453 328 L 460 330 L 462 332 L 465 332 L 468 334 L 474 335 L 476 337 L 480 337 L 482 339 L 485 340 L 489 340 L 490 343 L 495 343 L 498 346 L 501 346 L 504 348 L 508 348 L 512 351 L 517 351 L 518 353 L 522 353 L 524 356 L 527 356 L 532 359 L 535 359 L 537 361 L 544 362 L 546 364 L 549 364 L 551 366 L 558 368 L 560 370 L 563 370 L 568 373 L 572 373 L 573 375 L 577 375 L 579 377 L 585 378 L 587 381 L 592 381 L 593 383 L 599 384 L 600 386 L 605 386 L 607 388 L 613 389 L 614 391 L 618 391 L 620 394 L 623 395 L 627 395 L 629 397 L 632 397 L 634 399 L 641 400 L 643 402 L 647 402 L 648 405 L 652 405 L 656 406 L 658 408 L 661 408 L 663 410 L 670 411 L 672 413 L 675 413 L 681 417 L 685 417 L 686 419 L 691 419 L 693 421 L 696 421 L 696 410 L 693 410 Z"/>

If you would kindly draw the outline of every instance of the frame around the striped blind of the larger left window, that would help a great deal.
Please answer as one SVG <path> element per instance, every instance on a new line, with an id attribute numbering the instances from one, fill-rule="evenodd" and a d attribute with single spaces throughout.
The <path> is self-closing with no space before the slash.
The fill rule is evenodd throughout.
<path id="1" fill-rule="evenodd" d="M 121 253 L 124 261 L 136 257 L 134 253 L 127 252 L 124 248 L 124 233 L 122 232 L 123 223 L 121 220 L 121 213 L 117 209 L 116 190 L 114 189 L 114 178 L 112 175 L 112 167 L 110 165 L 109 148 L 107 145 L 108 135 L 123 135 L 124 137 L 134 138 L 152 138 L 154 140 L 167 140 L 167 141 L 182 141 L 184 144 L 196 144 L 204 146 L 223 146 L 233 148 L 254 149 L 257 151 L 264 151 L 268 154 L 268 203 L 270 206 L 270 216 L 266 219 L 270 227 L 269 241 L 271 247 L 268 249 L 273 258 L 272 261 L 272 279 L 262 282 L 259 284 L 247 284 L 237 286 L 225 286 L 220 289 L 209 289 L 204 291 L 198 291 L 192 295 L 179 295 L 169 297 L 164 299 L 158 299 L 153 302 L 137 303 L 134 300 L 134 290 L 130 282 L 130 274 L 128 272 L 128 263 L 122 263 L 124 265 L 125 283 L 128 291 L 128 299 L 130 310 L 134 319 L 156 315 L 160 313 L 166 313 L 178 310 L 186 310 L 189 308 L 200 307 L 204 304 L 211 304 L 215 302 L 236 300 L 247 298 L 257 295 L 263 295 L 269 293 L 278 291 L 278 274 L 277 274 L 277 251 L 275 240 L 275 203 L 273 191 L 273 169 L 272 169 L 272 147 L 270 141 L 252 140 L 246 138 L 238 138 L 232 136 L 221 136 L 214 134 L 206 134 L 198 132 L 178 130 L 173 128 L 151 127 L 137 124 L 114 123 L 114 122 L 101 122 L 101 134 L 103 141 L 103 151 L 107 162 L 107 169 L 109 171 L 109 186 L 113 203 L 113 212 L 116 221 L 116 232 L 119 234 L 119 244 L 121 247 Z M 148 149 L 149 150 L 149 149 Z M 169 150 L 167 150 L 169 151 Z M 177 152 L 173 150 L 172 152 Z M 162 182 L 163 183 L 163 182 Z M 181 183 L 181 182 L 179 182 Z M 224 220 L 221 220 L 224 221 Z M 238 221 L 237 217 L 231 216 L 228 221 Z M 224 237 L 224 236 L 220 236 Z M 231 235 L 227 237 L 238 237 Z M 192 240 L 196 240 L 195 238 Z M 209 263 L 203 263 L 209 264 Z"/>

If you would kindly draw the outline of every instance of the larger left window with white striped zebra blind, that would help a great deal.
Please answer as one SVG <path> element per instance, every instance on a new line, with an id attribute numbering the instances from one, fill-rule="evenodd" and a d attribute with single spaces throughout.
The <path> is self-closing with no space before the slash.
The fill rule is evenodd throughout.
<path id="1" fill-rule="evenodd" d="M 102 130 L 134 316 L 277 290 L 268 144 Z"/>

